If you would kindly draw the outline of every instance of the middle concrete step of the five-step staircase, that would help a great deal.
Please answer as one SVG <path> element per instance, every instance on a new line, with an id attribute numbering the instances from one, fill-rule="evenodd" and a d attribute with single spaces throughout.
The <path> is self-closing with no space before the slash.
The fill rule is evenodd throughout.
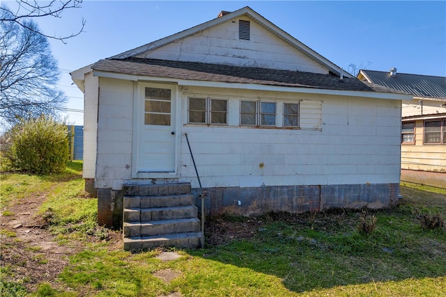
<path id="1" fill-rule="evenodd" d="M 145 209 L 124 209 L 124 222 L 148 222 L 151 220 L 175 220 L 178 218 L 197 218 L 198 208 L 187 207 L 155 207 Z"/>

